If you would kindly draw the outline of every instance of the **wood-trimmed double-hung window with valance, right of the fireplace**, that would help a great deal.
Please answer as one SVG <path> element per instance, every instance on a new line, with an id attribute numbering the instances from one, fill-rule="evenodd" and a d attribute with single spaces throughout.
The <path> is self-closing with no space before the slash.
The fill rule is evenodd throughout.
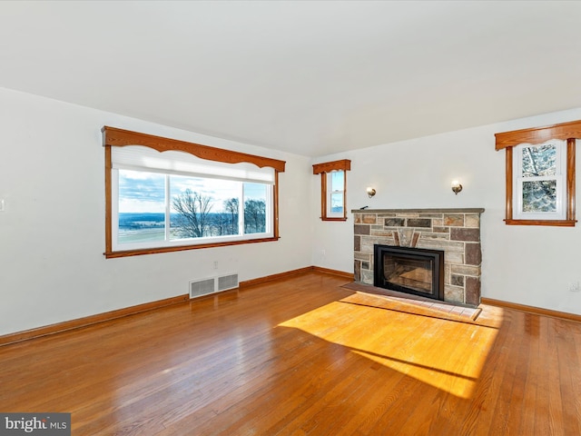
<path id="1" fill-rule="evenodd" d="M 574 226 L 575 149 L 581 121 L 495 135 L 506 151 L 505 222 Z"/>

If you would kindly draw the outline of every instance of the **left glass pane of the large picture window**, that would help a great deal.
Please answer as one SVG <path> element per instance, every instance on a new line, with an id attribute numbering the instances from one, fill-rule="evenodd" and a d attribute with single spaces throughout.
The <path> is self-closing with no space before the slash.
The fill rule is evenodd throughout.
<path id="1" fill-rule="evenodd" d="M 119 170 L 117 243 L 165 239 L 165 176 Z"/>

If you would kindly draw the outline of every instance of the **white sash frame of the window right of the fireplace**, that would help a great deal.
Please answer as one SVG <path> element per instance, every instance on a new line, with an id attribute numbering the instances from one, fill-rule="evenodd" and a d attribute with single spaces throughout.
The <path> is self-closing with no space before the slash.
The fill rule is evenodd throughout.
<path id="1" fill-rule="evenodd" d="M 523 153 L 526 148 L 543 145 L 556 147 L 556 174 L 550 176 L 523 177 Z M 550 140 L 543 144 L 519 144 L 514 147 L 513 159 L 513 204 L 517 220 L 565 220 L 566 219 L 566 141 Z M 526 182 L 556 181 L 556 212 L 531 213 L 523 210 L 523 184 Z"/>

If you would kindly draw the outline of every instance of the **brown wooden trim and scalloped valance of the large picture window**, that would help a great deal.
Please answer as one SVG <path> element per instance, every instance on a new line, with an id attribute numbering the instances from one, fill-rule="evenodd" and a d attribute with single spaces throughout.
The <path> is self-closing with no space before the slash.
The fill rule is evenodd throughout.
<path id="1" fill-rule="evenodd" d="M 152 134 L 142 134 L 132 132 L 129 130 L 118 129 L 110 126 L 103 126 L 101 129 L 103 134 L 103 147 L 105 151 L 105 258 L 116 258 L 134 256 L 140 254 L 152 253 L 169 253 L 179 252 L 184 250 L 196 250 L 201 248 L 219 247 L 224 245 L 240 245 L 243 243 L 263 243 L 270 241 L 278 241 L 279 235 L 279 173 L 285 170 L 285 161 L 271 159 L 268 157 L 257 156 L 254 154 L 245 154 L 240 152 L 232 152 L 230 150 L 223 150 L 208 145 L 188 143 L 162 136 L 154 136 Z M 134 250 L 116 250 L 113 251 L 113 163 L 112 163 L 112 147 L 123 147 L 125 145 L 143 145 L 145 147 L 153 148 L 162 153 L 165 151 L 179 151 L 188 154 L 193 154 L 201 159 L 206 159 L 214 162 L 222 163 L 253 163 L 259 167 L 269 166 L 274 169 L 274 185 L 272 186 L 272 231 L 273 236 L 268 238 L 249 239 L 243 241 L 231 241 L 221 243 L 198 243 L 195 245 L 175 245 L 171 247 L 155 247 L 143 248 Z"/>

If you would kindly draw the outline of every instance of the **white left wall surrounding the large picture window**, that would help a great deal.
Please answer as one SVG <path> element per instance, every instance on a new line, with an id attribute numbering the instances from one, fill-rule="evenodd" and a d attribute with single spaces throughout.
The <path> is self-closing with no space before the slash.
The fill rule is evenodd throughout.
<path id="1" fill-rule="evenodd" d="M 280 174 L 281 240 L 106 260 L 101 128 L 261 154 Z M 0 88 L 0 335 L 310 266 L 309 159 Z M 218 262 L 218 269 L 213 263 Z"/>

